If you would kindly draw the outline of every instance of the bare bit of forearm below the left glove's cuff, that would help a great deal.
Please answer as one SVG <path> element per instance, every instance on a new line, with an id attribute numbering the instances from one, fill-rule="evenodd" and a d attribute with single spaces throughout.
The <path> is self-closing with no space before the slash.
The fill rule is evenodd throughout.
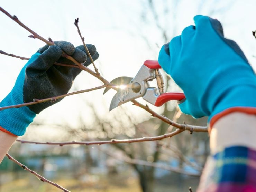
<path id="1" fill-rule="evenodd" d="M 10 135 L 0 131 L 0 163 L 18 136 Z"/>

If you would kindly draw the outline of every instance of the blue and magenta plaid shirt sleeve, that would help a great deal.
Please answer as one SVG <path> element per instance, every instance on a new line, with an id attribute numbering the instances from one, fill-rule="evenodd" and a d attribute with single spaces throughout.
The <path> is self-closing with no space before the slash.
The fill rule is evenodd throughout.
<path id="1" fill-rule="evenodd" d="M 256 150 L 225 148 L 208 157 L 198 192 L 256 192 Z"/>

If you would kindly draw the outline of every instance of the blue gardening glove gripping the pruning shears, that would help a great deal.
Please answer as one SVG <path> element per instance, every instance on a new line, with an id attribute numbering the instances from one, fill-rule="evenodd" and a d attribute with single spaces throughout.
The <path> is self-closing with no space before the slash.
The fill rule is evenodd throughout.
<path id="1" fill-rule="evenodd" d="M 232 111 L 256 114 L 256 76 L 243 51 L 224 37 L 218 20 L 197 15 L 194 21 L 161 48 L 158 58 L 184 91 L 181 111 L 209 116 L 208 121 Z"/>

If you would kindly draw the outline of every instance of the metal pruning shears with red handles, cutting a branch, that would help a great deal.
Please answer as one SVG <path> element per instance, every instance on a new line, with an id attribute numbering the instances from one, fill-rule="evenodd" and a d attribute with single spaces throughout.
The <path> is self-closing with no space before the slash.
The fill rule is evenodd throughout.
<path id="1" fill-rule="evenodd" d="M 170 100 L 181 101 L 185 99 L 181 92 L 164 92 L 164 81 L 159 72 L 161 66 L 158 61 L 146 60 L 137 75 L 132 77 L 117 77 L 110 83 L 117 85 L 118 91 L 112 98 L 109 111 L 139 97 L 159 107 Z M 157 88 L 150 87 L 149 81 L 156 79 Z M 104 90 L 105 94 L 110 88 Z"/>

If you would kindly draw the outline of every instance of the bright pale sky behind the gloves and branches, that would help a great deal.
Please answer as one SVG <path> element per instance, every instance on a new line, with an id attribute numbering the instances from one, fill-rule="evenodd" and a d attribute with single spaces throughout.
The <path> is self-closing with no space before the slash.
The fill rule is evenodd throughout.
<path id="1" fill-rule="evenodd" d="M 21 22 L 42 37 L 69 41 L 75 46 L 82 44 L 73 24 L 75 18 L 79 17 L 79 26 L 85 42 L 94 44 L 100 54 L 95 64 L 103 77 L 110 81 L 118 76 L 135 76 L 145 60 L 157 60 L 159 47 L 166 43 L 147 2 L 147 0 L 17 0 L 1 1 L 0 6 L 11 15 L 16 15 Z M 225 36 L 238 43 L 254 69 L 256 68 L 256 58 L 253 57 L 256 56 L 256 40 L 252 36 L 252 31 L 256 30 L 256 1 L 158 0 L 154 2 L 157 2 L 155 10 L 159 13 L 159 23 L 167 29 L 169 40 L 180 35 L 186 26 L 193 25 L 193 16 L 210 14 L 209 16 L 217 18 L 222 23 Z M 179 2 L 176 7 L 175 2 Z M 3 13 L 0 13 L 0 21 L 0 50 L 30 57 L 39 47 L 44 46 L 44 42 L 28 38 L 27 36 L 31 34 Z M 0 60 L 0 99 L 3 99 L 12 89 L 26 61 L 5 55 L 0 55 Z M 93 66 L 90 68 L 93 69 Z M 74 87 L 79 90 L 99 85 L 102 83 L 98 79 L 84 71 L 74 81 Z M 177 87 L 172 89 L 178 90 Z M 118 109 L 108 112 L 115 91 L 105 95 L 102 93 L 103 89 L 67 97 L 44 110 L 36 119 L 43 120 L 47 124 L 68 122 L 74 127 L 77 125 L 78 116 L 90 122 L 93 117 L 86 108 L 85 101 L 97 106 L 102 117 L 111 117 L 113 113 L 118 113 Z M 146 104 L 144 100 L 139 101 Z M 135 115 L 137 121 L 151 117 L 143 109 L 131 103 L 124 104 L 124 107 Z M 150 107 L 161 113 L 161 108 L 152 105 Z"/>

